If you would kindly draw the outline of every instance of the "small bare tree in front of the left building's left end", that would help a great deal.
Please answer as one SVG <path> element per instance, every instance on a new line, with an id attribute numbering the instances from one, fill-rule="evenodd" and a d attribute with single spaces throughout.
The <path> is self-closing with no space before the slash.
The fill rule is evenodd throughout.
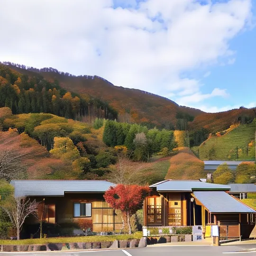
<path id="1" fill-rule="evenodd" d="M 17 230 L 17 239 L 20 239 L 20 231 L 29 215 L 37 216 L 38 203 L 36 200 L 30 201 L 28 198 L 19 197 L 13 200 L 9 207 L 0 206 L 8 215 L 12 226 Z"/>

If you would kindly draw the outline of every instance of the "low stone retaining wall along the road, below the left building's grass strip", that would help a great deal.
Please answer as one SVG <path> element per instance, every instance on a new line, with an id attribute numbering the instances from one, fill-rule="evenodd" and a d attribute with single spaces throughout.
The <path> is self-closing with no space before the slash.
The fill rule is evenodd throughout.
<path id="1" fill-rule="evenodd" d="M 3 252 L 29 252 L 29 251 L 68 251 L 86 249 L 116 249 L 146 247 L 146 238 L 116 240 L 113 242 L 80 242 L 80 243 L 51 243 L 42 245 L 0 245 Z"/>

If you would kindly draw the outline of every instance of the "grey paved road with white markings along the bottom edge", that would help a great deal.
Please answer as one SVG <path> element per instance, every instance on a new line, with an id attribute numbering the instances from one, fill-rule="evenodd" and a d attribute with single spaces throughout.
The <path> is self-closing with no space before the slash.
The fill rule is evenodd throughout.
<path id="1" fill-rule="evenodd" d="M 29 252 L 29 253 L 1 253 L 0 256 L 229 256 L 240 255 L 249 256 L 256 255 L 256 253 L 239 253 L 240 250 L 247 250 L 256 248 L 254 245 L 245 246 L 158 246 L 158 247 L 145 247 L 127 250 L 109 250 L 109 251 L 93 251 L 93 252 Z M 230 253 L 230 254 L 226 254 Z"/>

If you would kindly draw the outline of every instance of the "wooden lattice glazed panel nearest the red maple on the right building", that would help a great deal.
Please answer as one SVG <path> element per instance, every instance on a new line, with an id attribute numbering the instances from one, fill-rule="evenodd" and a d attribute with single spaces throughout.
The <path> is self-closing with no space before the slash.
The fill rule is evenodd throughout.
<path id="1" fill-rule="evenodd" d="M 149 197 L 147 198 L 146 211 L 147 225 L 162 225 L 162 198 Z"/>

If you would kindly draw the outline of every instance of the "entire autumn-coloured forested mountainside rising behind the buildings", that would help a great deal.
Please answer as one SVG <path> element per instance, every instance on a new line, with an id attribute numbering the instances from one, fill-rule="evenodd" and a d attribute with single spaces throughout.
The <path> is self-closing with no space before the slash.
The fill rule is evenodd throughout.
<path id="1" fill-rule="evenodd" d="M 115 181 L 121 168 L 138 183 L 202 178 L 201 160 L 255 159 L 254 117 L 242 107 L 204 113 L 97 76 L 0 64 L 0 147 L 26 152 L 17 156 L 21 178 Z"/>

